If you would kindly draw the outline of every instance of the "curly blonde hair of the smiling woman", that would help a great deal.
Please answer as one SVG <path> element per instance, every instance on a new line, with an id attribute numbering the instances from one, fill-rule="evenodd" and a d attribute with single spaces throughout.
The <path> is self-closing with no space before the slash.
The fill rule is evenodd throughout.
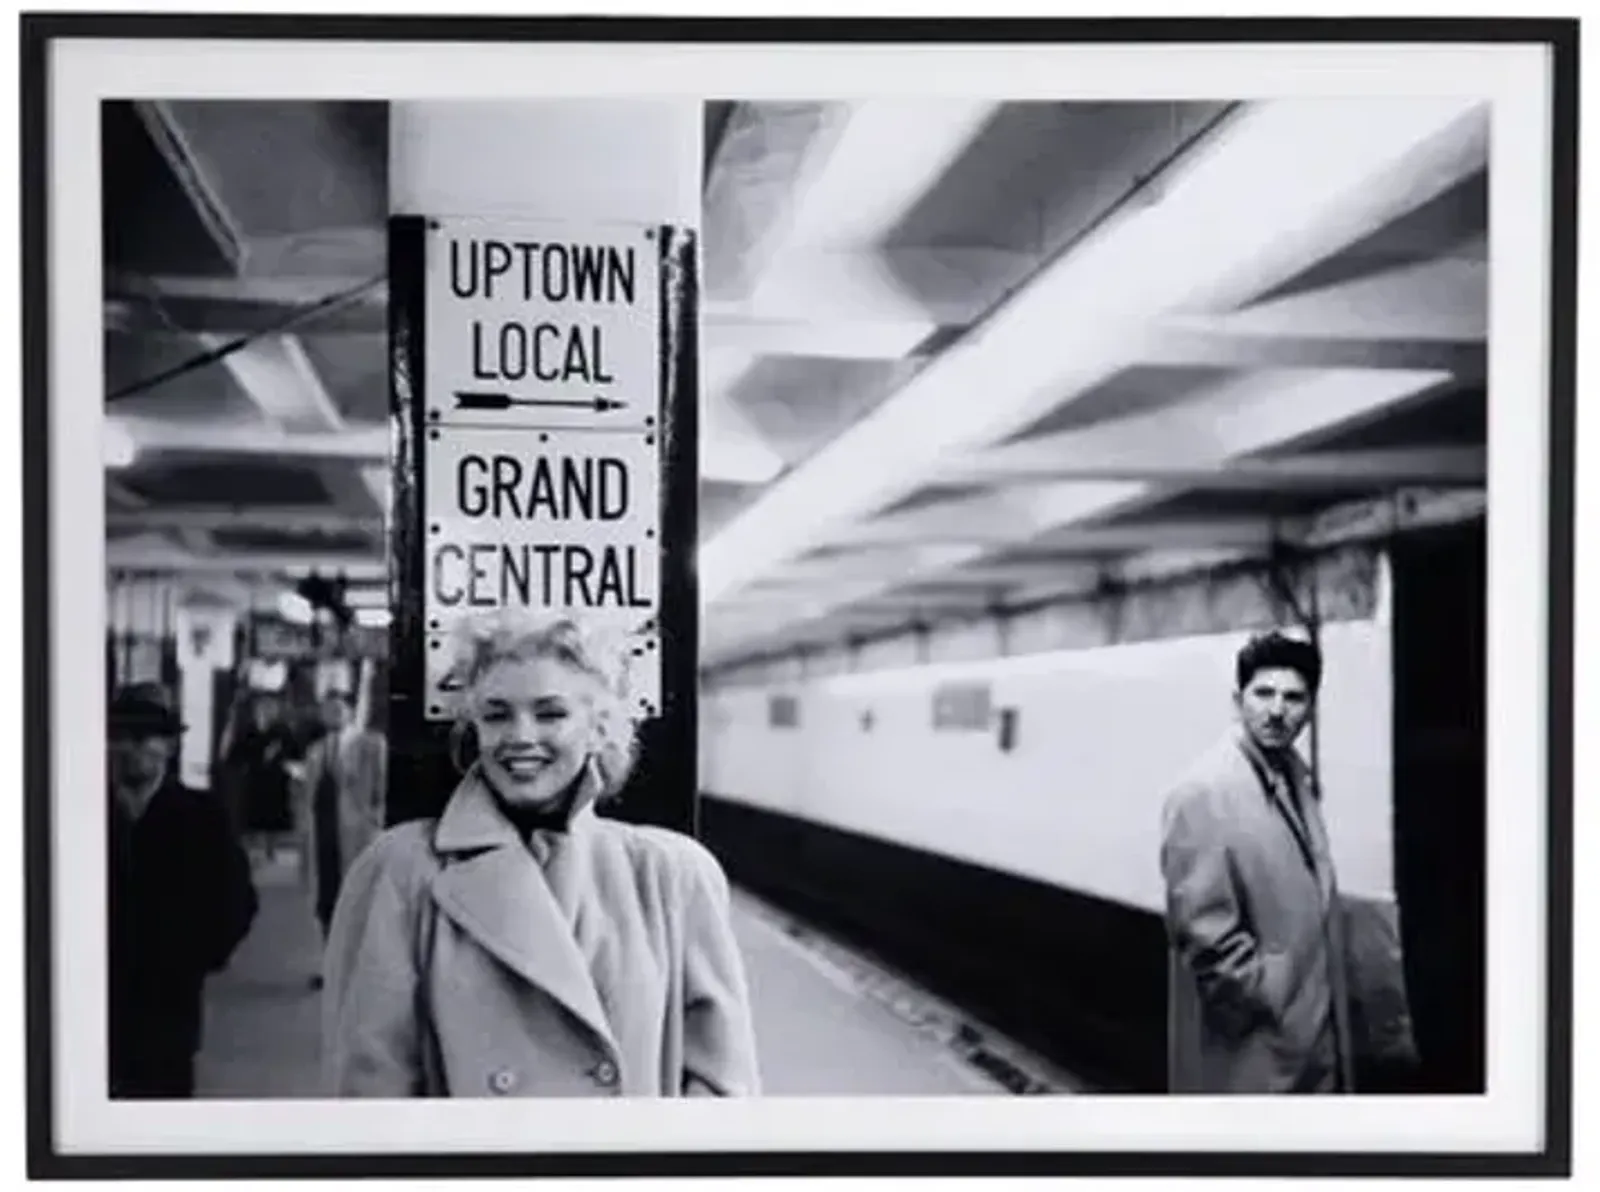
<path id="1" fill-rule="evenodd" d="M 594 763 L 600 771 L 602 797 L 622 789 L 634 770 L 638 739 L 630 699 L 630 635 L 602 630 L 566 613 L 496 610 L 464 618 L 453 637 L 450 678 L 469 694 L 490 667 L 506 661 L 549 658 L 595 680 Z M 458 766 L 459 742 L 470 730 L 470 699 L 462 699 L 451 739 Z"/>

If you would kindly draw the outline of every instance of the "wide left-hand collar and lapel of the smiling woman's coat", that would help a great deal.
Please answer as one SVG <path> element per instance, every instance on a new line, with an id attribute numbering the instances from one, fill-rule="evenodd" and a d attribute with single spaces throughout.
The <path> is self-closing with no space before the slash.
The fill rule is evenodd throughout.
<path id="1" fill-rule="evenodd" d="M 435 829 L 450 861 L 434 878 L 434 901 L 486 952 L 560 1002 L 616 1046 L 573 926 L 544 870 L 475 774 L 458 787 Z"/>

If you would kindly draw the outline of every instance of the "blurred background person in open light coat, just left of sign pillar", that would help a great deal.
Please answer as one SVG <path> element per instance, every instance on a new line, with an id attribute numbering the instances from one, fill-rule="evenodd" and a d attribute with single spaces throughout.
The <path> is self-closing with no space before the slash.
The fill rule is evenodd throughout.
<path id="1" fill-rule="evenodd" d="M 384 827 L 389 746 L 382 734 L 355 722 L 355 710 L 346 691 L 323 696 L 323 734 L 306 755 L 302 778 L 302 872 L 323 939 L 344 870 Z M 322 986 L 320 974 L 312 986 Z"/>

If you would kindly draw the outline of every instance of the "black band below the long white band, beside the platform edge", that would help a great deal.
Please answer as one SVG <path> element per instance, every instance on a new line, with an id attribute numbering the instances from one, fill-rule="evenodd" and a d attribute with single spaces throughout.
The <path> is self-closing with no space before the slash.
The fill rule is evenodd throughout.
<path id="1" fill-rule="evenodd" d="M 702 795 L 728 877 L 1102 1091 L 1166 1086 L 1158 915 Z"/>

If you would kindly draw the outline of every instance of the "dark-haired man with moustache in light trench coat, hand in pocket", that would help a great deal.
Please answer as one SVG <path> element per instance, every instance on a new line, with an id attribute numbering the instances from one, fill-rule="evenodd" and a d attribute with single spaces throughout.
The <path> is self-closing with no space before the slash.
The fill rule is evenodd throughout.
<path id="1" fill-rule="evenodd" d="M 1282 634 L 1235 667 L 1238 725 L 1166 797 L 1173 1093 L 1349 1093 L 1344 922 L 1314 776 L 1294 742 L 1322 654 Z"/>

